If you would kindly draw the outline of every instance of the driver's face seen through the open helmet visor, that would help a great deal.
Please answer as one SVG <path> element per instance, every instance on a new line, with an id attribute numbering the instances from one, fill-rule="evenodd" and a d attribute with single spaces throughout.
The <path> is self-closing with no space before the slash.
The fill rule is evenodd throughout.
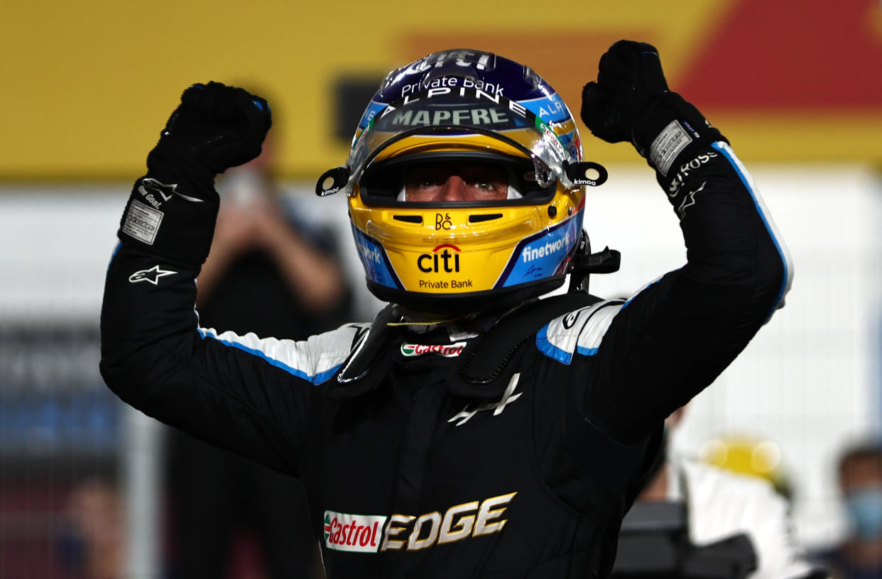
<path id="1" fill-rule="evenodd" d="M 508 197 L 508 174 L 487 163 L 426 163 L 407 169 L 404 190 L 406 201 L 493 201 Z"/>

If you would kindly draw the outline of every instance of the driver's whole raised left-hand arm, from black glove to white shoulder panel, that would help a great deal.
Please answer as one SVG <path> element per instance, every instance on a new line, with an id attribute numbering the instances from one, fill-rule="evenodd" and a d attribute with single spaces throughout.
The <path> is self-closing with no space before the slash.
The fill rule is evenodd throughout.
<path id="1" fill-rule="evenodd" d="M 138 410 L 296 475 L 313 392 L 355 327 L 296 343 L 217 336 L 194 310 L 220 203 L 214 176 L 256 157 L 270 124 L 266 101 L 241 88 L 184 91 L 123 212 L 101 309 L 101 375 Z"/>

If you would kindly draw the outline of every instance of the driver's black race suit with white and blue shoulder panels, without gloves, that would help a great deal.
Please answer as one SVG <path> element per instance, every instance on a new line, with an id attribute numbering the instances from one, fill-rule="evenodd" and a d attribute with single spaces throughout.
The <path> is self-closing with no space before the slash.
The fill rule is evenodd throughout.
<path id="1" fill-rule="evenodd" d="M 387 308 L 370 331 L 302 342 L 219 334 L 198 326 L 195 267 L 123 243 L 101 371 L 143 412 L 303 479 L 332 579 L 607 575 L 663 419 L 789 286 L 728 145 L 670 180 L 683 268 L 626 302 L 532 302 L 496 330 L 498 315 L 388 325 L 400 318 Z"/>

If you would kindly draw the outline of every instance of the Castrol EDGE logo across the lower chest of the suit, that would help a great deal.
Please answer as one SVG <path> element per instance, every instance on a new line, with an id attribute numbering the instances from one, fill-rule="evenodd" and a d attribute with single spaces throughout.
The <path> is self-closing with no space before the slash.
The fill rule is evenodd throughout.
<path id="1" fill-rule="evenodd" d="M 469 537 L 491 535 L 502 531 L 508 523 L 503 516 L 515 494 L 464 502 L 448 508 L 444 514 L 436 510 L 420 516 L 377 516 L 326 510 L 325 546 L 358 553 L 419 551 Z"/>

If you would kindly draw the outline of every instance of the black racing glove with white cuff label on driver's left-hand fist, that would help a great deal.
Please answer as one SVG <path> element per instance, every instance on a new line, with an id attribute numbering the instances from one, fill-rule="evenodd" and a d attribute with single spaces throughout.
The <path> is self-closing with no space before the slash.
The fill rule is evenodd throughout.
<path id="1" fill-rule="evenodd" d="M 214 177 L 257 157 L 271 124 L 266 100 L 242 88 L 191 85 L 147 155 L 119 238 L 183 264 L 205 262 L 220 206 Z"/>

